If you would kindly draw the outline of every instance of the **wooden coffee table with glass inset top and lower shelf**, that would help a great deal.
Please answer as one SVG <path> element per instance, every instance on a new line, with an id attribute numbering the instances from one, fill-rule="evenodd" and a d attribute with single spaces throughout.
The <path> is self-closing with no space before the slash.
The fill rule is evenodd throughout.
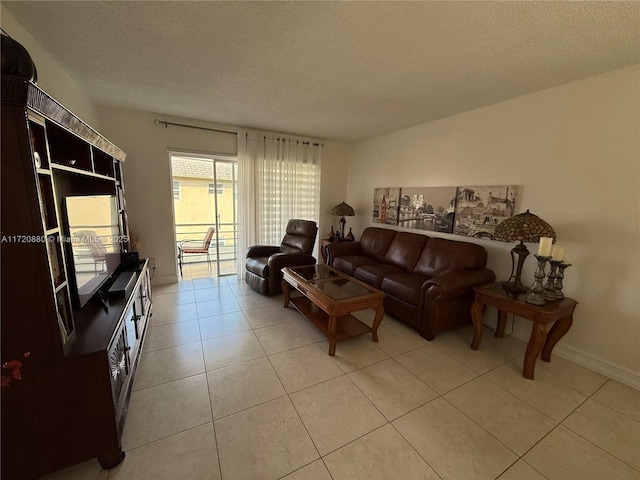
<path id="1" fill-rule="evenodd" d="M 302 296 L 291 296 L 291 287 Z M 336 342 L 371 332 L 378 341 L 378 327 L 384 317 L 384 293 L 328 265 L 307 265 L 282 269 L 284 306 L 289 303 L 310 320 L 327 338 L 329 355 L 335 355 Z M 351 315 L 358 310 L 376 309 L 369 327 Z"/>

